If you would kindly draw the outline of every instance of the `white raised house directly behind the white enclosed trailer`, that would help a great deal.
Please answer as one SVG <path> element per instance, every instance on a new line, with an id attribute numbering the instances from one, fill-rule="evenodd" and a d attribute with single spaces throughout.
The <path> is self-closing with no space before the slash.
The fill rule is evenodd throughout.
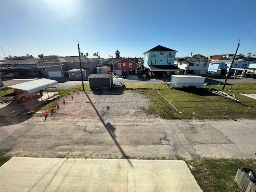
<path id="1" fill-rule="evenodd" d="M 195 58 L 191 58 L 191 60 L 185 60 L 183 58 L 176 59 L 175 65 L 178 66 L 182 71 L 182 74 L 191 74 L 191 75 L 205 75 L 207 74 L 207 70 L 210 62 L 202 61 Z"/>

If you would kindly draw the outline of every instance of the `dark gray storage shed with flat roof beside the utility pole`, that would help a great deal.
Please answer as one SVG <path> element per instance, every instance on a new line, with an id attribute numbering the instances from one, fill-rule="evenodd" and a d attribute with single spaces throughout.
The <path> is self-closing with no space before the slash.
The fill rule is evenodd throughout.
<path id="1" fill-rule="evenodd" d="M 90 74 L 88 77 L 90 89 L 111 89 L 112 74 Z"/>

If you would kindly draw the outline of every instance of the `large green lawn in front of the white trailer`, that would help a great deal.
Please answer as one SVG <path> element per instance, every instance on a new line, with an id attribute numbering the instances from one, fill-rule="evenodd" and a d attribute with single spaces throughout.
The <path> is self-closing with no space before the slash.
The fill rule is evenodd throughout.
<path id="1" fill-rule="evenodd" d="M 155 89 L 156 87 L 159 92 Z M 150 107 L 147 110 L 142 108 L 142 110 L 147 114 L 156 114 L 161 118 L 227 119 L 256 117 L 256 100 L 240 94 L 256 94 L 256 84 L 233 84 L 231 90 L 224 90 L 230 96 L 235 94 L 235 98 L 240 102 L 206 93 L 203 88 L 191 91 L 177 90 L 168 88 L 167 84 L 161 83 L 126 84 L 126 89 L 140 92 L 145 98 L 152 100 Z M 177 109 L 176 116 L 176 110 L 162 97 L 166 98 Z"/>

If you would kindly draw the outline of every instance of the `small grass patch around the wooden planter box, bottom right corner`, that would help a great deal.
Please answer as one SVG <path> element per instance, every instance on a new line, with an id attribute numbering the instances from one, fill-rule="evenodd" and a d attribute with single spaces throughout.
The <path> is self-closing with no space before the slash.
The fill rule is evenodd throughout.
<path id="1" fill-rule="evenodd" d="M 256 171 L 256 159 L 214 159 L 186 161 L 203 192 L 240 192 L 234 182 L 239 167 Z"/>

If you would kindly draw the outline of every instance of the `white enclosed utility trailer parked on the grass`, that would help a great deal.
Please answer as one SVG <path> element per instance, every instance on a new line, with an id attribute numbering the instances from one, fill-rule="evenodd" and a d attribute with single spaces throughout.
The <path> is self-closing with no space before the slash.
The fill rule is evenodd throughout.
<path id="1" fill-rule="evenodd" d="M 204 77 L 197 75 L 172 75 L 170 86 L 172 88 L 202 88 Z"/>

